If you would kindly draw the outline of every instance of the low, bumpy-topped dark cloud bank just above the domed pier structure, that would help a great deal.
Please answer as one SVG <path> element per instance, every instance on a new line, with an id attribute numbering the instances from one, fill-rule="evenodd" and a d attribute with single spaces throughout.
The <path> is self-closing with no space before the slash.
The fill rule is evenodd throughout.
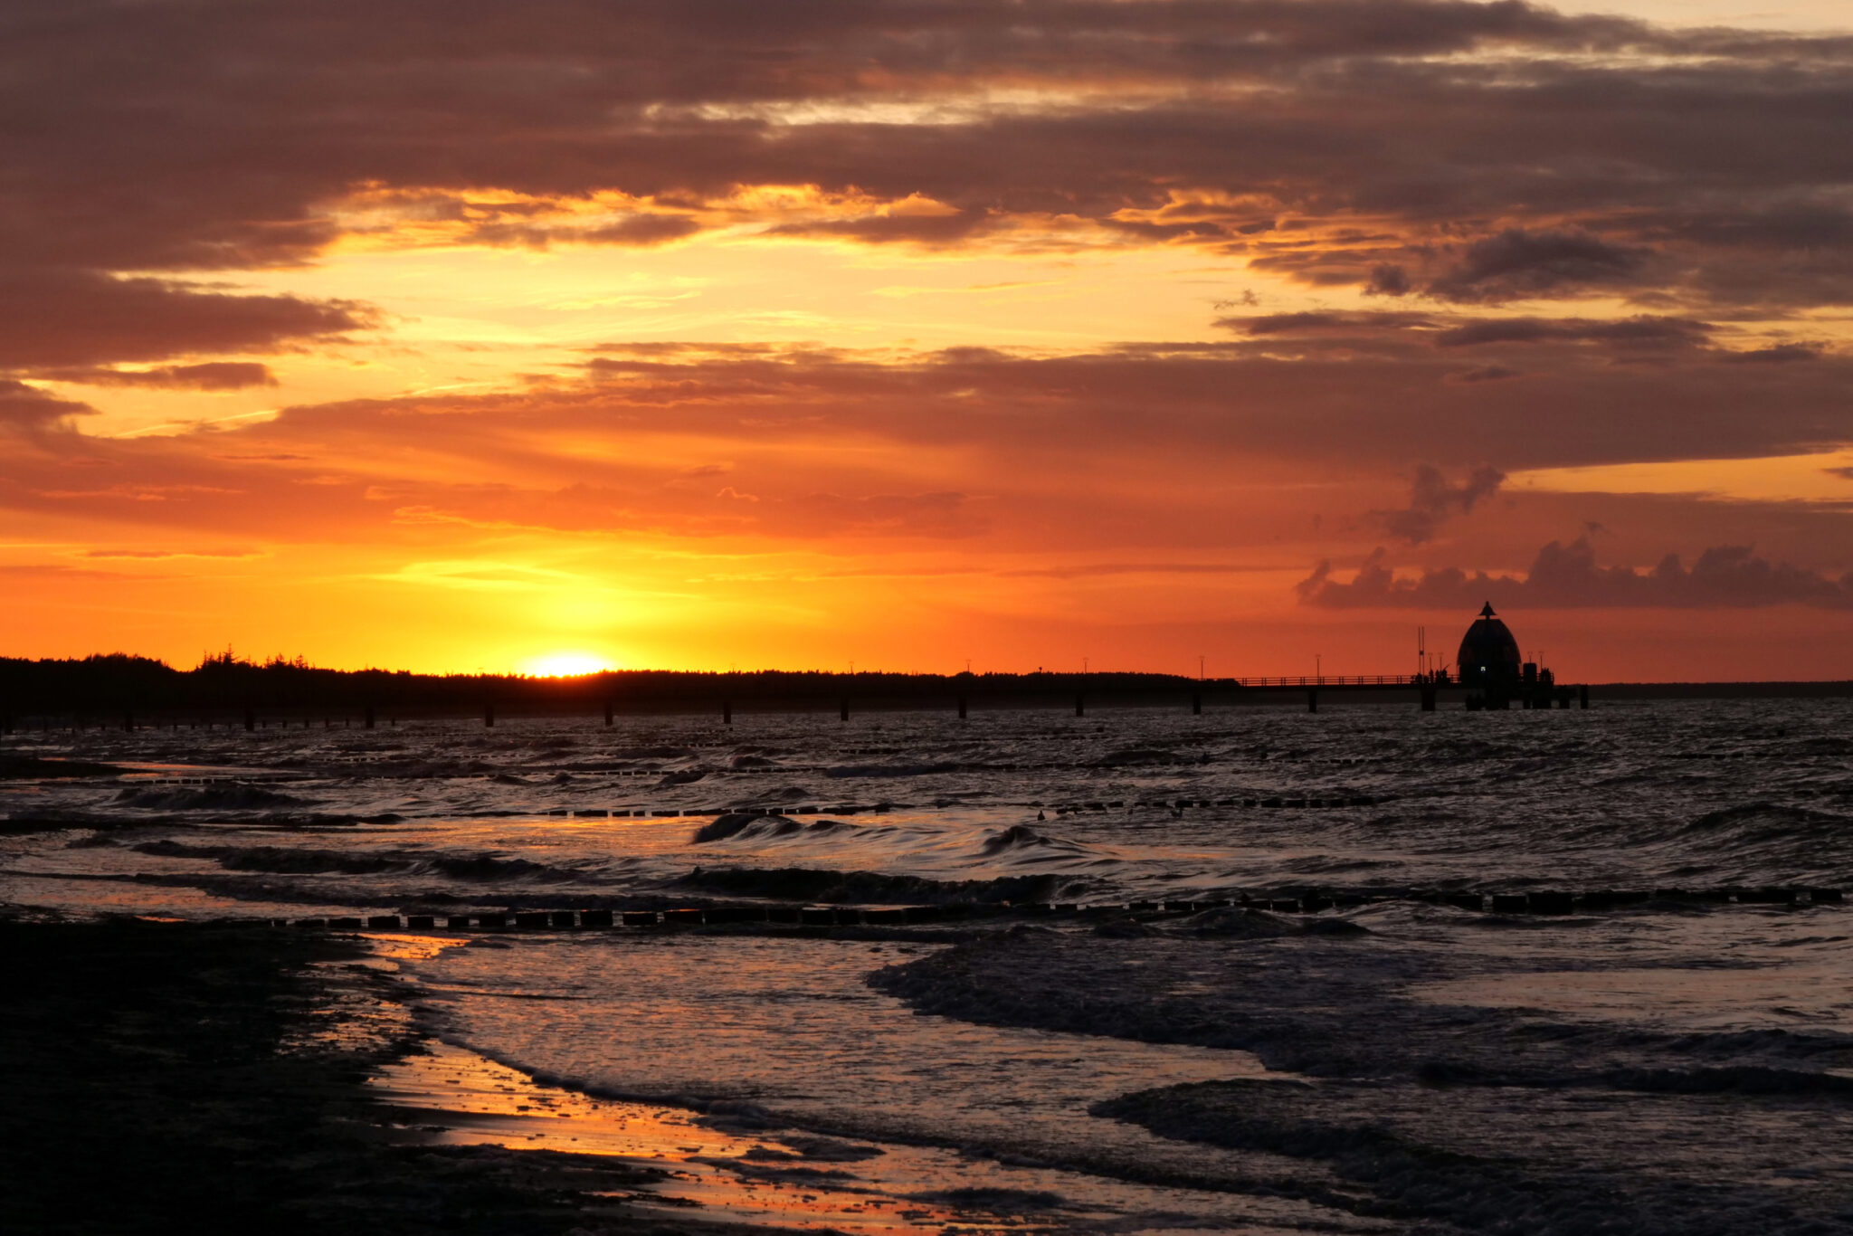
<path id="1" fill-rule="evenodd" d="M 1340 584 L 1321 561 L 1295 586 L 1301 604 L 1347 610 L 1466 610 L 1484 600 L 1532 610 L 1675 608 L 1746 610 L 1812 606 L 1853 610 L 1853 574 L 1833 578 L 1786 561 L 1770 561 L 1749 545 L 1718 545 L 1684 567 L 1666 554 L 1655 567 L 1597 567 L 1588 536 L 1538 550 L 1531 571 L 1468 574 L 1458 567 L 1397 576 L 1384 550 L 1373 552 L 1356 576 Z"/>

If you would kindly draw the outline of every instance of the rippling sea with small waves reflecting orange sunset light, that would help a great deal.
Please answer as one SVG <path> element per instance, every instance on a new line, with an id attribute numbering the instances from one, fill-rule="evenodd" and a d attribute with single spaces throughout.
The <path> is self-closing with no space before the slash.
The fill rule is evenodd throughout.
<path id="1" fill-rule="evenodd" d="M 1853 1232 L 1853 702 L 1321 704 L 15 732 L 0 902 L 426 915 L 384 1091 L 730 1221 Z"/>

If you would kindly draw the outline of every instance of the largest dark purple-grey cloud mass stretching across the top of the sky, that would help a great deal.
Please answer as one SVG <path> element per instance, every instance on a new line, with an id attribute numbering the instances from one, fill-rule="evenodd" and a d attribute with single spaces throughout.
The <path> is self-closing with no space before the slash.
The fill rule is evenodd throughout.
<path id="1" fill-rule="evenodd" d="M 0 365 L 365 328 L 361 306 L 182 276 L 302 263 L 395 209 L 454 224 L 445 243 L 750 224 L 1195 245 L 1453 304 L 1853 298 L 1844 37 L 1449 0 L 526 11 L 198 0 L 7 22 Z M 599 195 L 632 213 L 576 222 Z"/>

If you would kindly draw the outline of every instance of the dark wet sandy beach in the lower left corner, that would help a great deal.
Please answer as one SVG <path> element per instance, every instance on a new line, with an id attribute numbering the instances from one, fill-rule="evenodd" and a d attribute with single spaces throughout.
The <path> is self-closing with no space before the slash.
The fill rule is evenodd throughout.
<path id="1" fill-rule="evenodd" d="M 421 1049 L 385 980 L 345 965 L 363 956 L 269 927 L 0 919 L 6 1230 L 741 1230 L 615 1201 L 654 1180 L 617 1160 L 417 1145 L 365 1088 Z"/>

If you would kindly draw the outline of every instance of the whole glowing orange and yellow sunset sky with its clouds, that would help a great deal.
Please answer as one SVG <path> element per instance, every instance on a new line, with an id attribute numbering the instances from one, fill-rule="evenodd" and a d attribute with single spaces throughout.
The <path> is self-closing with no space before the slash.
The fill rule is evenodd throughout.
<path id="1" fill-rule="evenodd" d="M 7 4 L 0 654 L 1853 676 L 1849 32 Z"/>

